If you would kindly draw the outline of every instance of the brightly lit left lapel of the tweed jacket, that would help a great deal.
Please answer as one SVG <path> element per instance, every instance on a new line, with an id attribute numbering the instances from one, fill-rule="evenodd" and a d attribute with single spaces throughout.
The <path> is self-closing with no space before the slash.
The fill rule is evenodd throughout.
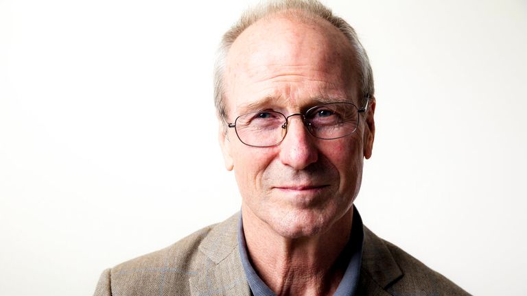
<path id="1" fill-rule="evenodd" d="M 239 259 L 238 219 L 239 213 L 215 225 L 199 245 L 200 271 L 189 279 L 193 296 L 250 295 Z"/>

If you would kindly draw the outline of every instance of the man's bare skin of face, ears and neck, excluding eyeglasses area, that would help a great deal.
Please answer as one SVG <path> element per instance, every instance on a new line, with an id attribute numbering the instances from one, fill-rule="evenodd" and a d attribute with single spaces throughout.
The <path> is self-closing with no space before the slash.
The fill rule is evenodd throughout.
<path id="1" fill-rule="evenodd" d="M 226 60 L 226 119 L 250 111 L 286 116 L 323 101 L 362 106 L 353 49 L 323 20 L 277 14 L 248 27 Z M 244 145 L 220 127 L 226 169 L 242 195 L 248 253 L 277 295 L 332 295 L 345 264 L 353 201 L 371 156 L 375 98 L 358 129 L 335 140 L 311 136 L 299 116 L 274 147 Z M 345 258 L 344 258 L 345 259 Z"/>

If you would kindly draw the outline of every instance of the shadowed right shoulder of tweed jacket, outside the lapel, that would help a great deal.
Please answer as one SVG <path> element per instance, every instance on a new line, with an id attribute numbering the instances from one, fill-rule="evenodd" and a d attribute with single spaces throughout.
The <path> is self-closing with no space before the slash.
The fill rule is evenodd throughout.
<path id="1" fill-rule="evenodd" d="M 387 291 L 392 292 L 393 295 L 470 295 L 447 277 L 430 269 L 393 243 L 382 241 L 403 273 L 399 280 L 387 288 Z"/>

